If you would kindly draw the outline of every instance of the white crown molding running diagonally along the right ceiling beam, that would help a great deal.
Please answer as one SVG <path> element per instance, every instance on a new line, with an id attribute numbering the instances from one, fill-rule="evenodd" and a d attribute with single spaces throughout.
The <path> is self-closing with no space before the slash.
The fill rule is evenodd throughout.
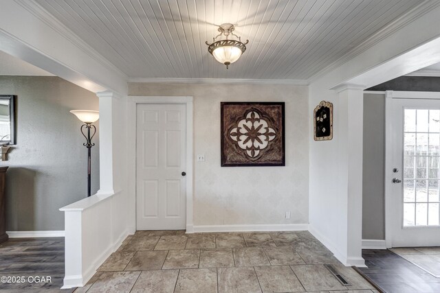
<path id="1" fill-rule="evenodd" d="M 430 12 L 432 9 L 437 8 L 438 6 L 440 6 L 440 1 L 422 2 L 420 5 L 417 5 L 417 7 L 412 8 L 412 10 L 409 10 L 406 14 L 391 21 L 391 23 L 386 25 L 386 27 L 382 27 L 381 30 L 377 31 L 369 38 L 366 38 L 362 43 L 360 43 L 360 45 L 351 49 L 351 51 L 349 51 L 347 54 L 344 54 L 344 56 L 342 56 L 335 62 L 331 63 L 324 69 L 320 70 L 318 73 L 311 75 L 308 78 L 308 80 L 310 82 L 314 82 L 315 80 L 318 80 L 318 78 L 322 77 L 322 75 L 325 75 L 333 71 L 334 69 L 340 67 L 349 60 L 355 58 L 355 56 L 362 54 L 362 52 L 373 47 L 381 40 L 384 40 L 384 38 L 387 38 L 397 30 L 400 30 L 402 27 L 405 27 L 406 25 L 412 23 L 412 21 L 415 21 L 416 19 L 419 19 L 420 16 L 423 16 L 424 14 Z"/>

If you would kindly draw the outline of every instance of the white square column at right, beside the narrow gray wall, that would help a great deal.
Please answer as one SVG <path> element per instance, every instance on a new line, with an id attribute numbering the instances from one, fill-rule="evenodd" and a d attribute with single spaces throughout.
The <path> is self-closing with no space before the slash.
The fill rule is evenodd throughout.
<path id="1" fill-rule="evenodd" d="M 362 151 L 364 86 L 344 84 L 339 95 L 338 115 L 340 192 L 347 198 L 346 265 L 365 266 L 362 258 Z"/>

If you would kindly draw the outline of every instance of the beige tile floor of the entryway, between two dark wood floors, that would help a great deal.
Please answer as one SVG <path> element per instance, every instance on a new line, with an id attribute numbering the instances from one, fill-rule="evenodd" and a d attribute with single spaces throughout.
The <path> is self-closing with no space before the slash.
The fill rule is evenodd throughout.
<path id="1" fill-rule="evenodd" d="M 341 285 L 323 263 L 351 285 Z M 75 292 L 377 291 L 308 232 L 137 231 Z"/>

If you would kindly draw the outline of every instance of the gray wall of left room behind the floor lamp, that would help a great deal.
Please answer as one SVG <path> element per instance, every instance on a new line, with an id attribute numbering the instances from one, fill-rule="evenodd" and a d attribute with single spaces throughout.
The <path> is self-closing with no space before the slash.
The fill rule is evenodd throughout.
<path id="1" fill-rule="evenodd" d="M 0 94 L 17 95 L 17 145 L 0 161 L 10 167 L 6 229 L 64 230 L 58 209 L 87 196 L 82 122 L 69 110 L 98 110 L 98 97 L 61 78 L 32 76 L 0 76 Z M 92 194 L 99 189 L 98 134 L 94 142 Z"/>

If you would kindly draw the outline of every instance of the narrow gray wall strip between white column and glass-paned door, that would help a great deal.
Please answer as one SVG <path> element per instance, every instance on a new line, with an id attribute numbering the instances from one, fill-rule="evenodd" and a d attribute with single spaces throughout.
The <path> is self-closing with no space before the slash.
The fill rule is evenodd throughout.
<path id="1" fill-rule="evenodd" d="M 362 239 L 385 239 L 385 95 L 364 94 Z"/>

